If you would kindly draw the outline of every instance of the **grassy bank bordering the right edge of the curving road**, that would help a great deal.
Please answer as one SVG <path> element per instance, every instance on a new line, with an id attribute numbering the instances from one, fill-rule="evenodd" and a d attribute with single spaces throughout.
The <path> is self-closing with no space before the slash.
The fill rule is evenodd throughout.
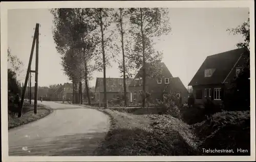
<path id="1" fill-rule="evenodd" d="M 97 155 L 198 154 L 196 147 L 188 144 L 194 137 L 189 126 L 178 119 L 159 115 L 133 115 L 110 109 L 103 111 L 112 118 L 112 126 L 97 150 Z M 173 120 L 172 124 L 170 120 Z M 183 136 L 188 137 L 184 139 Z"/>

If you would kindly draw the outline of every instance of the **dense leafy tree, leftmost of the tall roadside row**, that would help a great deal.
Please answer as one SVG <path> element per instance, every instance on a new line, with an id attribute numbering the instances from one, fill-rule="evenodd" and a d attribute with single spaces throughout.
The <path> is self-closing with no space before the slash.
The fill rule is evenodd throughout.
<path id="1" fill-rule="evenodd" d="M 56 49 L 61 55 L 63 70 L 73 83 L 72 102 L 77 103 L 77 82 L 81 72 L 78 69 L 78 53 L 75 52 L 75 47 L 79 42 L 78 33 L 74 29 L 77 20 L 76 15 L 74 9 L 69 8 L 52 9 L 51 13 L 54 16 L 53 39 Z"/>

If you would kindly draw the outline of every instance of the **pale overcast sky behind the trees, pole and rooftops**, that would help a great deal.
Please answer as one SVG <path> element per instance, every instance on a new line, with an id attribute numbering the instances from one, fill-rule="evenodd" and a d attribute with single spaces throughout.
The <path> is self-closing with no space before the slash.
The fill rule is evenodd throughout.
<path id="1" fill-rule="evenodd" d="M 241 36 L 229 35 L 228 28 L 236 28 L 248 18 L 248 8 L 170 8 L 172 32 L 156 45 L 163 51 L 163 62 L 174 77 L 180 77 L 187 87 L 205 58 L 219 52 L 235 49 L 236 43 L 243 41 Z M 12 55 L 24 63 L 25 80 L 33 28 L 40 23 L 39 75 L 38 85 L 49 86 L 71 82 L 63 74 L 61 59 L 56 51 L 52 35 L 53 16 L 48 9 L 15 9 L 8 11 L 8 46 Z M 35 67 L 35 57 L 32 69 Z M 106 69 L 107 77 L 119 77 L 117 65 Z M 90 86 L 95 85 L 96 77 L 103 72 L 94 72 Z M 32 78 L 34 80 L 34 78 Z M 32 82 L 34 85 L 34 81 Z"/>

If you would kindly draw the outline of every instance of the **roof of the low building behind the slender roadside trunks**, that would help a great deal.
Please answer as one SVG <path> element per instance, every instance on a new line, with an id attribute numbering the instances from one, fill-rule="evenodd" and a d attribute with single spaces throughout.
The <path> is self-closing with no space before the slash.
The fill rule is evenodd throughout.
<path id="1" fill-rule="evenodd" d="M 126 91 L 129 92 L 128 86 L 132 79 L 126 78 Z M 103 92 L 103 78 L 97 77 L 95 90 L 99 88 L 100 92 Z M 106 92 L 123 92 L 123 78 L 106 78 Z"/>

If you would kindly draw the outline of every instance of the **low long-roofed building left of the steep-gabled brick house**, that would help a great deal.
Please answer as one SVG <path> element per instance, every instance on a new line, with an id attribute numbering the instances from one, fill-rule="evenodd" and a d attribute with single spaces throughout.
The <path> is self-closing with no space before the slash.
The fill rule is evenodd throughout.
<path id="1" fill-rule="evenodd" d="M 132 79 L 126 79 L 126 96 L 127 101 L 129 101 L 129 89 L 128 86 L 131 83 Z M 111 100 L 123 95 L 123 78 L 106 78 L 106 99 Z M 103 78 L 97 77 L 95 85 L 95 101 L 103 102 L 104 97 L 104 87 L 103 87 Z"/>

